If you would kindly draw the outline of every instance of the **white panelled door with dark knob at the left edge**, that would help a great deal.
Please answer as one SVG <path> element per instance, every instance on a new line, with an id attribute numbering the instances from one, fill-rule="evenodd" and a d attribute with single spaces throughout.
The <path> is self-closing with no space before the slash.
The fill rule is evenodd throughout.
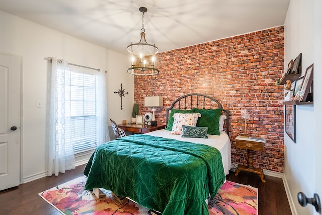
<path id="1" fill-rule="evenodd" d="M 20 183 L 21 58 L 0 53 L 0 190 Z"/>

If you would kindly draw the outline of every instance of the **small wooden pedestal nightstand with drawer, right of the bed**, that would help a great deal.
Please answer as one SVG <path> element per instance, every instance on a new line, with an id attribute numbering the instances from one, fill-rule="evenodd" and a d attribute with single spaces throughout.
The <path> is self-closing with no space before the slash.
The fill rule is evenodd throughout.
<path id="1" fill-rule="evenodd" d="M 253 172 L 256 173 L 260 176 L 262 182 L 265 183 L 264 179 L 264 172 L 262 168 L 255 168 L 253 166 L 253 153 L 255 151 L 264 151 L 264 143 L 265 142 L 260 142 L 256 141 L 253 139 L 237 136 L 236 138 L 236 146 L 239 149 L 246 149 L 247 150 L 247 166 L 239 164 L 237 171 L 235 173 L 235 176 L 239 174 L 240 171 L 247 171 L 247 172 Z"/>

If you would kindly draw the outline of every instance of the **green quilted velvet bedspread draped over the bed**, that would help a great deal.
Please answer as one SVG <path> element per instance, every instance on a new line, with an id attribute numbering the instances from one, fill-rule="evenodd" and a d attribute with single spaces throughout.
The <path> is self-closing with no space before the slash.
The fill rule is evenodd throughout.
<path id="1" fill-rule="evenodd" d="M 216 148 L 142 134 L 97 147 L 84 174 L 86 190 L 112 190 L 163 215 L 209 214 L 205 200 L 225 180 Z"/>

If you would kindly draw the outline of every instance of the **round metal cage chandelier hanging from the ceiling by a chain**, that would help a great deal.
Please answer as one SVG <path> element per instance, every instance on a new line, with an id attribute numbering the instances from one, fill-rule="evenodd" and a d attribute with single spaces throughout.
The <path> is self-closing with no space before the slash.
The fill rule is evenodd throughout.
<path id="1" fill-rule="evenodd" d="M 159 49 L 155 44 L 148 44 L 145 39 L 144 13 L 147 12 L 147 8 L 140 7 L 139 11 L 142 12 L 141 39 L 138 43 L 131 43 L 127 46 L 127 51 L 131 53 L 131 66 L 127 72 L 139 76 L 156 75 L 159 70 L 155 68 L 155 54 Z"/>

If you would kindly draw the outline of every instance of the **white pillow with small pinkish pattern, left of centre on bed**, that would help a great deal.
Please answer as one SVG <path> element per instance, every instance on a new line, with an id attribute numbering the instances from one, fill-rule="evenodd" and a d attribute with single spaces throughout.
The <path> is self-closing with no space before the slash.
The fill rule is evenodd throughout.
<path id="1" fill-rule="evenodd" d="M 182 135 L 182 126 L 195 127 L 199 117 L 201 117 L 200 113 L 175 113 L 173 115 L 174 121 L 170 134 Z"/>

